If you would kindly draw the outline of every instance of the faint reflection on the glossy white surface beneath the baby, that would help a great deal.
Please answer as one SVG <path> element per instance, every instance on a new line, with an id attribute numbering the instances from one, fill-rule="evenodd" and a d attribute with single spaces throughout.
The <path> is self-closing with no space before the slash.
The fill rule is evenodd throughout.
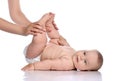
<path id="1" fill-rule="evenodd" d="M 102 81 L 99 72 L 36 71 L 24 76 L 24 81 Z"/>

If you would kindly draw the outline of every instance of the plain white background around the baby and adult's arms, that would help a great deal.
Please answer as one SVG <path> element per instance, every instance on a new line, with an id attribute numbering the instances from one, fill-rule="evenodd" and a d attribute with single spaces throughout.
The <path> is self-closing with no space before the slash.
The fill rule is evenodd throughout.
<path id="1" fill-rule="evenodd" d="M 119 0 L 20 0 L 21 9 L 32 22 L 46 12 L 56 14 L 59 32 L 76 50 L 98 49 L 104 64 L 102 81 L 119 81 L 120 1 Z M 7 0 L 0 0 L 0 17 L 12 22 Z M 21 81 L 27 64 L 23 49 L 32 36 L 0 31 L 0 80 Z M 16 78 L 16 74 L 19 74 Z M 119 80 L 118 80 L 119 79 Z"/>

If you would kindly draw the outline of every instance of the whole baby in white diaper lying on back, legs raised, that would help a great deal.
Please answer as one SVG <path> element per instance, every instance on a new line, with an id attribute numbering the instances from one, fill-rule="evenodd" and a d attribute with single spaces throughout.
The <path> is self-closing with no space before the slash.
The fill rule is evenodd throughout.
<path id="1" fill-rule="evenodd" d="M 97 71 L 103 64 L 103 57 L 97 50 L 76 51 L 59 34 L 53 24 L 54 14 L 45 14 L 38 22 L 46 32 L 38 33 L 26 50 L 26 58 L 31 61 L 22 68 L 30 70 L 74 70 Z M 50 38 L 47 42 L 47 36 Z M 35 59 L 38 61 L 35 61 Z"/>

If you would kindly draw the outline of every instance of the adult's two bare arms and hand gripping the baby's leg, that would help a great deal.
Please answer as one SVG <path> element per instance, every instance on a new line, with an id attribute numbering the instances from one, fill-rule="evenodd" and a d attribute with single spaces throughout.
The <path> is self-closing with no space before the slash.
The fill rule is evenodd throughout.
<path id="1" fill-rule="evenodd" d="M 22 13 L 19 0 L 8 0 L 10 16 L 16 24 L 0 18 L 0 30 L 18 35 L 36 35 L 44 31 L 38 23 L 31 23 Z"/>

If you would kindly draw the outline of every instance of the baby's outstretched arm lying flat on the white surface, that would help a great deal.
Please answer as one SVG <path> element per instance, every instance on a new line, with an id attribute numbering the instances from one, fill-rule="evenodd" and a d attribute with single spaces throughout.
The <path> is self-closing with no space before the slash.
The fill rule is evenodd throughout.
<path id="1" fill-rule="evenodd" d="M 30 70 L 72 70 L 72 62 L 67 58 L 38 61 L 28 64 L 22 68 L 24 71 Z"/>

